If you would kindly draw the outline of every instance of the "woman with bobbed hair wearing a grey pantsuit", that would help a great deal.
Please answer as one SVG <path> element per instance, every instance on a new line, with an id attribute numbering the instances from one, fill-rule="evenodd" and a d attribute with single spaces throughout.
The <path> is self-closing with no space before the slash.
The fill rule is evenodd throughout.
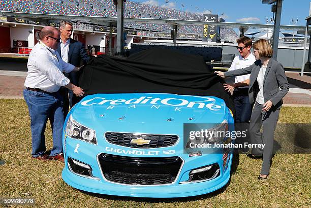
<path id="1" fill-rule="evenodd" d="M 230 72 L 215 72 L 222 78 L 251 74 L 248 97 L 254 105 L 250 135 L 253 144 L 264 144 L 264 148 L 253 148 L 252 156 L 262 156 L 262 168 L 259 180 L 267 179 L 269 175 L 273 134 L 278 120 L 279 110 L 283 104 L 282 98 L 289 91 L 289 84 L 284 68 L 271 58 L 272 48 L 268 41 L 259 40 L 253 44 L 256 61 L 253 65 Z M 281 89 L 280 89 L 281 88 Z M 263 127 L 263 132 L 260 132 Z"/>

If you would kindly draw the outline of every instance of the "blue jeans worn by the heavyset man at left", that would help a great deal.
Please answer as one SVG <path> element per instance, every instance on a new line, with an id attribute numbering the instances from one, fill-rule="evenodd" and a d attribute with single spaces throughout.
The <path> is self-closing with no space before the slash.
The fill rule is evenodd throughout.
<path id="1" fill-rule="evenodd" d="M 32 155 L 38 157 L 46 151 L 44 131 L 48 119 L 53 133 L 53 148 L 50 156 L 63 153 L 63 98 L 58 92 L 44 93 L 24 89 L 23 94 L 30 116 Z"/>

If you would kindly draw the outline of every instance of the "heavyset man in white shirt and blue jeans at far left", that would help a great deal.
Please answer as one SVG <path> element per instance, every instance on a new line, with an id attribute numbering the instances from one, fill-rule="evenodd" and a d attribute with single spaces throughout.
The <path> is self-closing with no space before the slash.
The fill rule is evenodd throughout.
<path id="1" fill-rule="evenodd" d="M 55 27 L 47 26 L 41 29 L 40 41 L 29 54 L 27 63 L 27 77 L 24 99 L 27 103 L 30 128 L 32 130 L 32 156 L 40 160 L 64 161 L 63 133 L 64 114 L 63 99 L 58 90 L 65 86 L 73 90 L 77 96 L 83 96 L 80 87 L 70 83 L 63 72 L 79 71 L 80 68 L 64 62 L 56 49 L 60 40 L 59 31 Z M 45 155 L 44 131 L 47 120 L 50 120 L 53 132 L 53 148 L 50 156 Z"/>

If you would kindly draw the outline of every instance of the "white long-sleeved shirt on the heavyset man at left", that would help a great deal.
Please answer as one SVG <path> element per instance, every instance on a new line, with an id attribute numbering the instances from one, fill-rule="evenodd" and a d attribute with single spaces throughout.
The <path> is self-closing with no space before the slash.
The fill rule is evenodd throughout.
<path id="1" fill-rule="evenodd" d="M 74 67 L 63 61 L 56 50 L 38 42 L 29 54 L 25 87 L 56 92 L 70 82 L 63 72 L 70 73 Z"/>

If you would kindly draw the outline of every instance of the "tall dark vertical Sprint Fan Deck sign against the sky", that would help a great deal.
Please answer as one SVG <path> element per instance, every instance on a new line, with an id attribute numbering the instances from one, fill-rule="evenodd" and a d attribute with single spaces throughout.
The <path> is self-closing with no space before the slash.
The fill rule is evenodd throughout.
<path id="1" fill-rule="evenodd" d="M 218 21 L 218 15 L 214 15 L 214 14 L 204 14 L 203 18 L 205 22 L 217 22 Z M 212 42 L 216 42 L 217 26 L 204 24 L 202 41 L 206 42 L 208 41 L 208 39 L 211 39 Z"/>

